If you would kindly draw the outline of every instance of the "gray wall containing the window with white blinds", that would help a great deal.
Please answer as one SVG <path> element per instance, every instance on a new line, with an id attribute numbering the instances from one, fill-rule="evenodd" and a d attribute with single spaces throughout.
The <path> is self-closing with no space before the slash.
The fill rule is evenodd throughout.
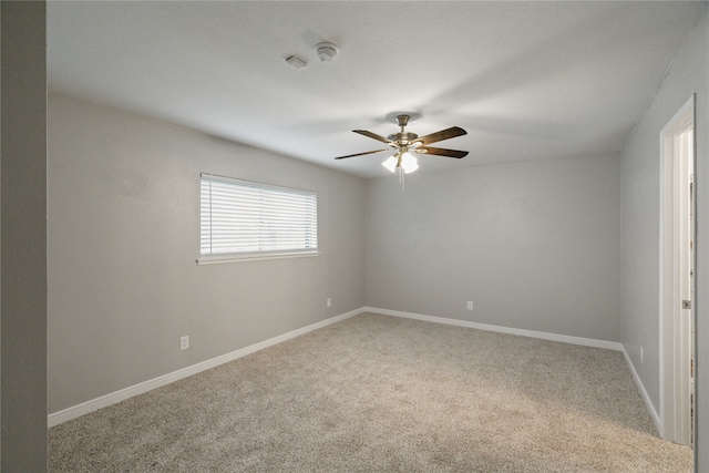
<path id="1" fill-rule="evenodd" d="M 363 179 L 53 94 L 48 150 L 50 412 L 364 305 Z M 316 191 L 321 255 L 197 266 L 201 172 Z"/>

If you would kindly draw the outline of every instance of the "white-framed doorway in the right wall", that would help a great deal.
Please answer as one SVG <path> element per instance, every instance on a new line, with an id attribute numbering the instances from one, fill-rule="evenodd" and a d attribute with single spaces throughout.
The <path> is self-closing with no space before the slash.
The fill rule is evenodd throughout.
<path id="1" fill-rule="evenodd" d="M 693 442 L 695 96 L 660 132 L 660 435 Z"/>

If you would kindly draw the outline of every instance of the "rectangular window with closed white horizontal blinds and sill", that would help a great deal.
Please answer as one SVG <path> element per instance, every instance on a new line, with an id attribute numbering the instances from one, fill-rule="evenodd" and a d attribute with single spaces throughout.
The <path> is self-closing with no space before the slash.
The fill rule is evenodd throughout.
<path id="1" fill-rule="evenodd" d="M 318 195 L 202 174 L 199 264 L 318 254 Z"/>

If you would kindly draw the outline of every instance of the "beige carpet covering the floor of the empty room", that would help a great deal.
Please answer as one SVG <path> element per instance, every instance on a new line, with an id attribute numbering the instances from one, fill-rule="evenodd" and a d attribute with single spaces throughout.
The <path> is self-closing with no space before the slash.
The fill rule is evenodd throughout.
<path id="1" fill-rule="evenodd" d="M 65 422 L 52 472 L 688 472 L 621 353 L 363 313 Z"/>

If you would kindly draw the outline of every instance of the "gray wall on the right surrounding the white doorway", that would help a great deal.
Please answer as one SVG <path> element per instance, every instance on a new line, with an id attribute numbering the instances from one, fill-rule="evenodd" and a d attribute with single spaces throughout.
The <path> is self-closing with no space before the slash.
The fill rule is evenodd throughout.
<path id="1" fill-rule="evenodd" d="M 621 154 L 623 343 L 659 409 L 659 133 L 697 93 L 697 471 L 709 471 L 709 25 L 707 13 L 678 54 Z M 639 347 L 645 349 L 640 363 Z"/>

